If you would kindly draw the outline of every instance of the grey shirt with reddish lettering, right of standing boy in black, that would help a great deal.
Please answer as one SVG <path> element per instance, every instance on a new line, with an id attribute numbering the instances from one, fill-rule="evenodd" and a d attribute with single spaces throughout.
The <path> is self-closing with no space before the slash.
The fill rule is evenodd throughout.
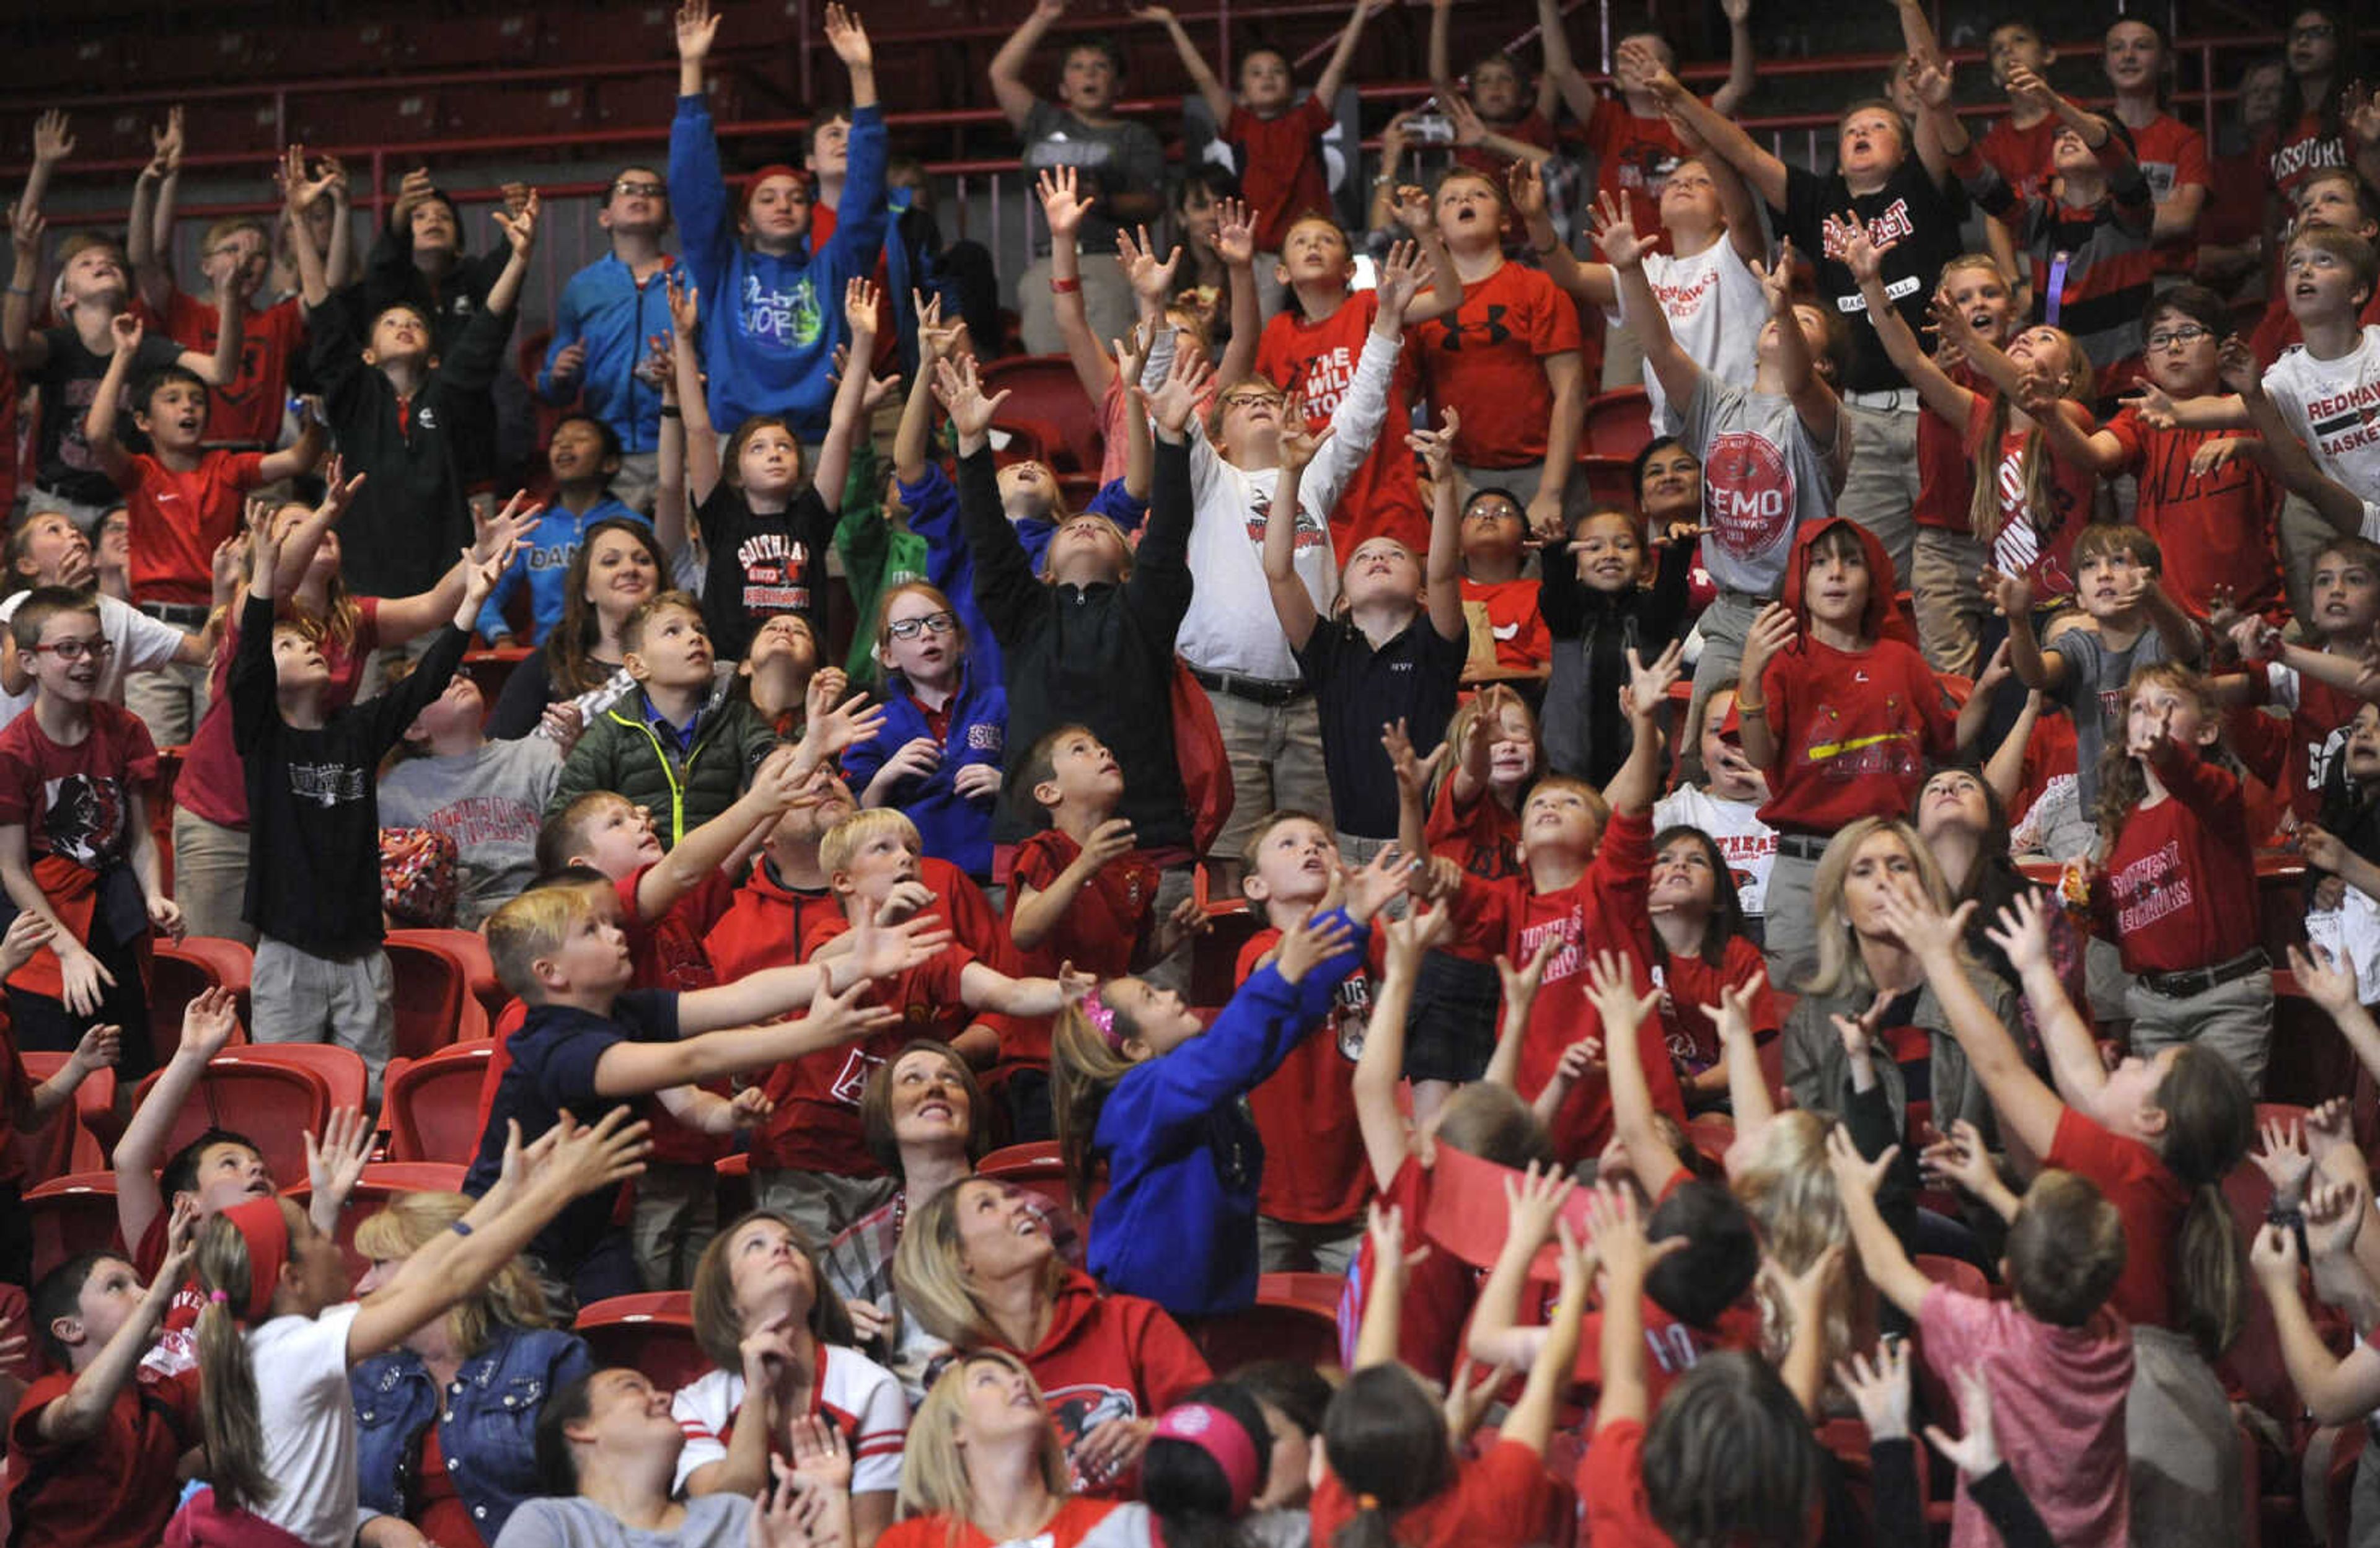
<path id="1" fill-rule="evenodd" d="M 538 880 L 538 818 L 559 775 L 562 749 L 538 735 L 459 759 L 407 759 L 381 778 L 381 828 L 455 839 L 455 923 L 478 930 Z"/>

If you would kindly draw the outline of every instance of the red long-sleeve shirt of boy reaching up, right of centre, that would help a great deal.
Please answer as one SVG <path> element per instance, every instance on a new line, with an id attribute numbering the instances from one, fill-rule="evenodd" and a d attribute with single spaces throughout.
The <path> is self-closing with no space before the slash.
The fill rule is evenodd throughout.
<path id="1" fill-rule="evenodd" d="M 1614 813 L 1595 861 L 1568 887 L 1533 892 L 1526 875 L 1504 882 L 1464 880 L 1464 889 L 1454 899 L 1457 923 L 1466 913 L 1492 915 L 1502 925 L 1509 961 L 1528 961 L 1547 935 L 1561 942 L 1561 949 L 1545 963 L 1537 1003 L 1530 1006 L 1528 1032 L 1521 1042 L 1518 1089 L 1523 1099 L 1533 1101 L 1545 1089 L 1564 1049 L 1602 1030 L 1602 1018 L 1587 1003 L 1587 958 L 1595 951 L 1623 951 L 1637 987 L 1652 984 L 1645 935 L 1645 885 L 1649 877 L 1652 818 Z M 1685 1096 L 1678 1094 L 1678 1072 L 1671 1068 L 1659 1018 L 1647 1018 L 1637 1027 L 1637 1058 L 1645 1063 L 1645 1084 L 1652 1087 L 1654 1108 L 1685 1122 Z M 1571 1087 L 1571 1096 L 1547 1127 L 1554 1153 L 1564 1160 L 1595 1156 L 1611 1139 L 1611 1087 L 1590 1070 Z"/>

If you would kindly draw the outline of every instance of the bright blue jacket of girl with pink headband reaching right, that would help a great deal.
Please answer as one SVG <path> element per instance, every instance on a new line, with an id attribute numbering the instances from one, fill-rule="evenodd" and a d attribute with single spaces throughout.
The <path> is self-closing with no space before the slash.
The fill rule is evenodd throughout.
<path id="1" fill-rule="evenodd" d="M 1207 1032 L 1135 1065 L 1107 1094 L 1090 1134 L 1092 1156 L 1107 1158 L 1088 1258 L 1100 1284 L 1176 1317 L 1254 1305 L 1264 1141 L 1242 1096 L 1328 1025 L 1366 939 L 1359 925 L 1347 951 L 1295 984 L 1259 968 Z"/>

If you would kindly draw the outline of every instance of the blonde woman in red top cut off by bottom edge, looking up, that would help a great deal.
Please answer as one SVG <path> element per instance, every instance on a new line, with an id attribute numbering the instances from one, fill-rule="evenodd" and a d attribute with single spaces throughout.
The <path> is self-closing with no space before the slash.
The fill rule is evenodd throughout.
<path id="1" fill-rule="evenodd" d="M 981 1348 L 919 1403 L 900 1474 L 902 1522 L 881 1548 L 1152 1548 L 1147 1505 L 1076 1496 L 1052 1398 L 1023 1360 Z"/>

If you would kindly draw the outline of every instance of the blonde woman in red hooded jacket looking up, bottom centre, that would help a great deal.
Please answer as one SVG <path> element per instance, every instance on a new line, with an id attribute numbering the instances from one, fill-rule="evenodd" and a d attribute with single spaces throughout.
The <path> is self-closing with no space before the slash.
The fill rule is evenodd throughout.
<path id="1" fill-rule="evenodd" d="M 1076 1486 L 1123 1486 L 1154 1417 L 1214 1372 L 1154 1301 L 1066 1267 L 1038 1203 L 988 1177 L 912 1213 L 892 1258 L 902 1310 L 962 1353 L 1007 1351 L 1050 1393 Z M 923 1420 L 923 1410 L 921 1410 Z"/>

